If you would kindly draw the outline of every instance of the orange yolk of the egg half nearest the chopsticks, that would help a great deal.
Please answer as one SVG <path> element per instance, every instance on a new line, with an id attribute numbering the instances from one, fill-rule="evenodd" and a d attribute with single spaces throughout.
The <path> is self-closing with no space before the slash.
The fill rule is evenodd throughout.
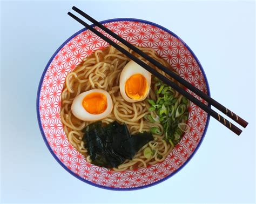
<path id="1" fill-rule="evenodd" d="M 140 99 L 147 91 L 147 80 L 142 74 L 133 74 L 125 82 L 125 93 L 131 99 Z"/>

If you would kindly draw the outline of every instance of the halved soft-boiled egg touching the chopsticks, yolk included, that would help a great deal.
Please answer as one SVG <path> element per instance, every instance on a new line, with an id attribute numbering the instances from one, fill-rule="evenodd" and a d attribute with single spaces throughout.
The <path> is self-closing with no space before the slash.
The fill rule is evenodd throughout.
<path id="1" fill-rule="evenodd" d="M 127 102 L 144 100 L 149 94 L 150 84 L 151 73 L 132 60 L 125 65 L 120 74 L 120 93 Z"/>

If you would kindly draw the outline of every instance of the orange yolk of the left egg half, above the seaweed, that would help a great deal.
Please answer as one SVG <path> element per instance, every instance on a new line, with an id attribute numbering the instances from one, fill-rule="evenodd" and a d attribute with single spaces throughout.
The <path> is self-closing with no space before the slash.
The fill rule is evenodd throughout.
<path id="1" fill-rule="evenodd" d="M 103 93 L 89 93 L 83 99 L 84 109 L 91 114 L 103 113 L 107 108 L 107 99 Z"/>

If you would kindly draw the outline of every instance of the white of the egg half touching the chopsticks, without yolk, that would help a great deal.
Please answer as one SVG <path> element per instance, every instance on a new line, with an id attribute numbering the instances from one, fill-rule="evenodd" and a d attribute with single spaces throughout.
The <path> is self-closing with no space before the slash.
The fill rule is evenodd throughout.
<path id="1" fill-rule="evenodd" d="M 126 83 L 127 79 L 129 79 L 134 74 L 142 74 L 142 76 L 144 76 L 147 81 L 147 90 L 146 90 L 144 96 L 140 99 L 132 99 L 129 96 L 127 96 L 127 94 L 125 92 L 125 83 Z M 142 66 L 138 65 L 136 62 L 134 62 L 132 60 L 125 65 L 124 69 L 122 70 L 122 72 L 120 74 L 120 80 L 119 80 L 120 93 L 121 93 L 122 97 L 124 98 L 124 100 L 126 100 L 127 102 L 130 102 L 130 103 L 145 100 L 145 98 L 147 97 L 147 95 L 150 92 L 150 85 L 151 85 L 151 73 L 150 72 L 148 72 Z"/>

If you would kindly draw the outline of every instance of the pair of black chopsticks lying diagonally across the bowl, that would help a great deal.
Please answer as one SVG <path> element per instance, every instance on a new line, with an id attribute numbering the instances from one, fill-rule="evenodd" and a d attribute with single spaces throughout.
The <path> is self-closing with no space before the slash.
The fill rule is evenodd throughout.
<path id="1" fill-rule="evenodd" d="M 75 6 L 73 6 L 72 8 L 73 10 L 79 12 L 82 16 L 84 16 L 85 18 L 89 19 L 89 21 L 94 21 L 93 23 L 97 24 L 97 26 L 99 26 L 100 29 L 106 31 L 107 33 L 109 33 L 110 35 L 112 35 L 113 37 L 115 37 L 116 39 L 118 39 L 120 42 L 122 42 L 123 44 L 125 44 L 126 46 L 128 46 L 129 48 L 131 48 L 132 50 L 136 51 L 137 53 L 139 53 L 139 55 L 141 54 L 142 57 L 144 57 L 145 59 L 149 60 L 149 62 L 152 62 L 152 64 L 156 65 L 159 69 L 163 70 L 164 72 L 166 72 L 167 74 L 169 74 L 169 76 L 171 77 L 176 77 L 174 79 L 176 79 L 177 81 L 179 81 L 181 84 L 183 84 L 184 86 L 189 86 L 191 89 L 191 91 L 195 91 L 194 93 L 197 93 L 198 90 L 196 87 L 194 87 L 193 85 L 191 85 L 190 83 L 188 83 L 187 81 L 185 81 L 183 78 L 179 77 L 177 74 L 175 74 L 174 72 L 171 72 L 170 70 L 167 70 L 166 67 L 164 67 L 163 65 L 161 65 L 160 63 L 158 63 L 156 60 L 152 59 L 151 57 L 147 56 L 144 52 L 142 52 L 141 50 L 137 49 L 137 47 L 134 47 L 133 45 L 131 45 L 130 43 L 126 42 L 126 40 L 124 40 L 123 38 L 120 38 L 119 36 L 117 36 L 115 33 L 113 33 L 112 31 L 110 31 L 109 29 L 105 28 L 103 25 L 99 24 L 95 19 L 91 18 L 90 16 L 86 15 L 86 13 L 84 13 L 83 11 L 77 9 Z M 157 78 L 159 78 L 160 80 L 162 80 L 165 84 L 171 86 L 173 89 L 177 90 L 180 94 L 182 94 L 183 96 L 185 96 L 188 100 L 192 101 L 192 103 L 196 104 L 197 106 L 199 106 L 202 110 L 204 110 L 205 112 L 207 112 L 208 114 L 210 114 L 213 118 L 217 119 L 221 124 L 225 125 L 227 128 L 229 128 L 231 131 L 233 131 L 235 134 L 240 135 L 241 134 L 241 130 L 233 125 L 230 121 L 226 120 L 224 117 L 222 117 L 221 115 L 219 115 L 217 112 L 215 112 L 214 110 L 212 110 L 210 107 L 208 107 L 207 105 L 205 105 L 204 103 L 202 103 L 200 100 L 198 100 L 197 98 L 193 97 L 190 93 L 186 92 L 184 89 L 182 89 L 181 87 L 179 87 L 176 83 L 174 83 L 173 81 L 171 81 L 170 79 L 166 78 L 165 76 L 163 76 L 162 74 L 160 74 L 158 71 L 154 70 L 151 66 L 147 65 L 146 63 L 144 63 L 142 60 L 138 59 L 137 57 L 133 56 L 130 52 L 126 51 L 123 47 L 119 46 L 118 44 L 114 43 L 111 39 L 107 38 L 106 36 L 104 36 L 102 33 L 100 33 L 99 31 L 97 31 L 96 29 L 94 29 L 92 26 L 90 26 L 89 24 L 85 23 L 84 21 L 82 21 L 80 18 L 78 18 L 77 16 L 73 15 L 71 12 L 68 12 L 68 15 L 71 16 L 72 18 L 74 18 L 76 21 L 78 21 L 79 23 L 81 23 L 82 25 L 84 25 L 87 29 L 91 30 L 93 33 L 95 33 L 97 36 L 99 36 L 100 38 L 104 39 L 107 43 L 109 43 L 110 45 L 112 45 L 113 47 L 115 47 L 117 50 L 119 50 L 120 52 L 122 52 L 124 55 L 126 55 L 127 57 L 129 57 L 130 59 L 132 59 L 134 62 L 136 62 L 137 64 L 139 64 L 140 66 L 144 67 L 144 69 L 146 69 L 147 71 L 151 72 L 154 76 L 156 76 Z M 104 28 L 104 29 L 103 29 Z M 174 74 L 173 74 L 174 73 Z M 178 77 L 177 77 L 178 76 Z M 183 79 L 180 80 L 180 79 Z M 185 82 L 184 82 L 185 81 Z M 193 88 L 194 87 L 194 88 Z M 197 91 L 198 90 L 198 91 Z M 201 92 L 201 91 L 200 91 Z M 212 98 L 210 98 L 209 96 L 207 96 L 207 94 L 205 94 L 204 92 L 198 92 L 198 96 L 202 96 L 201 98 L 205 97 L 208 100 L 211 100 Z M 202 94 L 203 93 L 203 94 Z M 205 96 L 204 96 L 205 95 Z M 206 97 L 207 96 L 207 97 Z M 205 99 L 206 100 L 206 99 Z M 213 100 L 213 99 L 212 99 Z M 206 100 L 207 101 L 207 100 Z M 215 101 L 215 100 L 213 100 Z M 217 101 L 216 101 L 217 102 Z M 210 101 L 208 101 L 208 103 L 211 104 Z M 217 102 L 218 103 L 218 102 Z M 216 104 L 216 103 L 215 103 Z M 219 103 L 218 103 L 219 104 Z M 221 105 L 222 106 L 222 105 Z M 223 106 L 224 107 L 224 106 Z M 224 107 L 225 108 L 225 107 Z M 232 113 L 231 111 L 227 110 L 227 108 L 225 108 L 225 112 L 226 114 L 230 114 L 235 115 L 234 113 Z M 242 125 L 246 126 L 247 122 L 243 119 L 241 119 L 240 117 L 238 118 L 238 116 L 235 116 L 235 120 L 239 121 Z M 244 122 L 241 122 L 244 121 Z"/>

